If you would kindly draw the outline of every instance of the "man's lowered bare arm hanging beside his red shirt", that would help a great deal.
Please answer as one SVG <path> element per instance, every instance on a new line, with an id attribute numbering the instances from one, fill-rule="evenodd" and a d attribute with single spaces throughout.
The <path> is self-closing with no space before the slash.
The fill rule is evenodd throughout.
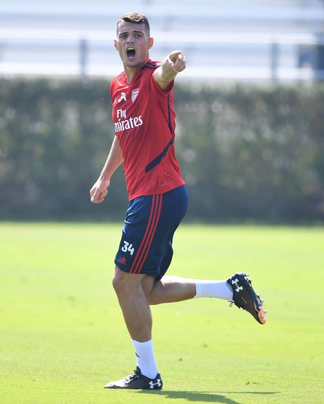
<path id="1" fill-rule="evenodd" d="M 119 141 L 115 136 L 104 168 L 90 190 L 91 202 L 100 203 L 104 200 L 104 197 L 108 194 L 107 188 L 109 187 L 110 177 L 122 162 L 123 154 L 119 146 Z"/>

